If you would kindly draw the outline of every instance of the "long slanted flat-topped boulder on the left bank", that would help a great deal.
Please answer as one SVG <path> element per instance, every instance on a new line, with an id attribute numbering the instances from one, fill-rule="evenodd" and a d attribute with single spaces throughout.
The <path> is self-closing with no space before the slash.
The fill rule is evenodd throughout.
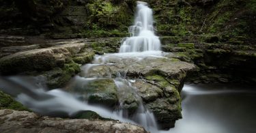
<path id="1" fill-rule="evenodd" d="M 16 74 L 62 68 L 71 55 L 79 53 L 84 47 L 83 43 L 64 44 L 8 55 L 0 59 L 0 72 L 1 74 Z"/>

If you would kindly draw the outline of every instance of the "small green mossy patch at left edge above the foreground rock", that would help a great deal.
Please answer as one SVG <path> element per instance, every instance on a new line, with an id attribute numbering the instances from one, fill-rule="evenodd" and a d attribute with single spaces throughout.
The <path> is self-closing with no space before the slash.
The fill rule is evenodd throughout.
<path id="1" fill-rule="evenodd" d="M 16 102 L 10 95 L 3 93 L 3 91 L 0 91 L 0 109 L 31 111 L 23 106 L 23 104 Z"/>

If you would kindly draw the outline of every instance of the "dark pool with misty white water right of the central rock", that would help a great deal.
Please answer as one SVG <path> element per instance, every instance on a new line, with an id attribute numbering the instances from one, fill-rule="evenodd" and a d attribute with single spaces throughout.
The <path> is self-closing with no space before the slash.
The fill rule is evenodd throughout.
<path id="1" fill-rule="evenodd" d="M 256 88 L 245 85 L 184 85 L 182 119 L 170 133 L 256 132 Z M 162 131 L 162 133 L 165 133 Z"/>

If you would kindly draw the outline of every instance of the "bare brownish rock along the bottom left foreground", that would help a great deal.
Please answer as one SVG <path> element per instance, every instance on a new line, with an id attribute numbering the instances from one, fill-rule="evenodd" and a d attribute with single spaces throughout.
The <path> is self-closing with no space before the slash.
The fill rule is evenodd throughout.
<path id="1" fill-rule="evenodd" d="M 40 117 L 35 113 L 0 110 L 0 132 L 147 132 L 142 127 L 119 121 Z"/>

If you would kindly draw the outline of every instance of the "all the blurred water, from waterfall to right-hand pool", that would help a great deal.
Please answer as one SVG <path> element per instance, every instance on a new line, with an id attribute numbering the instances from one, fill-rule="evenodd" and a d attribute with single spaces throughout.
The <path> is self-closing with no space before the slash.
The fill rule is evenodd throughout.
<path id="1" fill-rule="evenodd" d="M 119 108 L 115 110 L 93 106 L 88 104 L 86 98 L 79 95 L 79 92 L 67 93 L 61 89 L 47 91 L 41 84 L 40 78 L 18 76 L 0 78 L 0 88 L 5 93 L 16 96 L 16 100 L 42 115 L 72 116 L 81 110 L 92 110 L 102 117 L 143 125 L 150 132 L 256 132 L 256 118 L 253 114 L 256 106 L 252 102 L 256 101 L 255 91 L 220 89 L 212 85 L 206 87 L 185 85 L 182 91 L 184 118 L 177 121 L 175 128 L 160 131 L 153 113 L 143 105 L 136 87 L 132 87 L 133 81 L 126 78 L 126 70 L 117 72 L 115 75 L 111 72 L 94 71 L 98 67 L 114 65 L 116 60 L 141 61 L 145 57 L 162 58 L 160 40 L 154 34 L 152 15 L 152 10 L 147 7 L 147 3 L 138 2 L 134 25 L 129 27 L 131 36 L 123 42 L 119 53 L 97 55 L 91 64 L 81 67 L 81 74 L 75 76 L 68 85 L 68 87 L 87 85 L 95 80 L 110 78 L 119 93 L 124 93 L 122 95 L 132 93 L 139 100 L 139 108 L 132 116 L 123 109 L 122 101 L 119 101 Z"/>

